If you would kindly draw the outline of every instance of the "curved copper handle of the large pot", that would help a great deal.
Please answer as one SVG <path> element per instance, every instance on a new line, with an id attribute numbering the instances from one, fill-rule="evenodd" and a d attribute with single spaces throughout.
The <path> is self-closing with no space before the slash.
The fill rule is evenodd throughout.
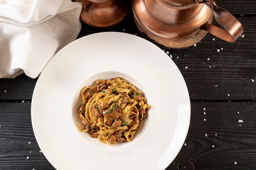
<path id="1" fill-rule="evenodd" d="M 202 27 L 203 30 L 219 37 L 228 42 L 235 42 L 236 39 L 244 32 L 242 24 L 229 11 L 220 8 L 216 5 L 214 0 L 195 0 L 197 2 L 204 2 L 212 10 L 215 20 L 225 29 L 219 28 L 212 24 L 206 23 Z"/>

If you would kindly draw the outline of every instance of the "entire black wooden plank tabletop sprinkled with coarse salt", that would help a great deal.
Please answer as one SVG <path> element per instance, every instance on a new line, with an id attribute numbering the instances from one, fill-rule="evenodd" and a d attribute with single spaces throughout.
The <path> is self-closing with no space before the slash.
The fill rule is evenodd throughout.
<path id="1" fill-rule="evenodd" d="M 256 1 L 216 1 L 240 20 L 244 36 L 230 44 L 207 34 L 197 46 L 165 49 L 182 72 L 191 98 L 189 133 L 167 170 L 256 169 Z M 130 12 L 111 29 L 82 24 L 79 37 L 103 31 L 140 36 Z M 2 170 L 54 169 L 40 152 L 31 125 L 36 81 L 25 74 L 0 79 Z"/>

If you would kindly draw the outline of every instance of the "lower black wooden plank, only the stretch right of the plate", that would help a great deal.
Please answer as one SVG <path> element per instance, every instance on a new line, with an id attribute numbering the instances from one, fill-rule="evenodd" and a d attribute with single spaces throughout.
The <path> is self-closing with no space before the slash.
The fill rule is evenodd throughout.
<path id="1" fill-rule="evenodd" d="M 192 102 L 186 146 L 167 170 L 255 170 L 255 110 L 256 102 Z"/>

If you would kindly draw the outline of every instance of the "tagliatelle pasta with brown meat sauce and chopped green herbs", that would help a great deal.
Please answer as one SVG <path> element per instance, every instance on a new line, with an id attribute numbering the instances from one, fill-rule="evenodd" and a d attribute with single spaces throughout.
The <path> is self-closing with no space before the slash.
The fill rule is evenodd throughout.
<path id="1" fill-rule="evenodd" d="M 131 142 L 150 107 L 142 92 L 120 77 L 97 80 L 83 87 L 81 96 L 78 111 L 83 128 L 78 124 L 78 129 L 103 144 Z"/>

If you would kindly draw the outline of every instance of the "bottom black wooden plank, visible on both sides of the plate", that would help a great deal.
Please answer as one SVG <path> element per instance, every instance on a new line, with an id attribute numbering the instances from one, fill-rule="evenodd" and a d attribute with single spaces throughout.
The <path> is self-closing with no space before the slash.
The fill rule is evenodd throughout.
<path id="1" fill-rule="evenodd" d="M 0 169 L 53 169 L 39 152 L 30 107 L 0 103 Z M 255 110 L 256 102 L 191 102 L 186 146 L 167 170 L 256 169 Z"/>

